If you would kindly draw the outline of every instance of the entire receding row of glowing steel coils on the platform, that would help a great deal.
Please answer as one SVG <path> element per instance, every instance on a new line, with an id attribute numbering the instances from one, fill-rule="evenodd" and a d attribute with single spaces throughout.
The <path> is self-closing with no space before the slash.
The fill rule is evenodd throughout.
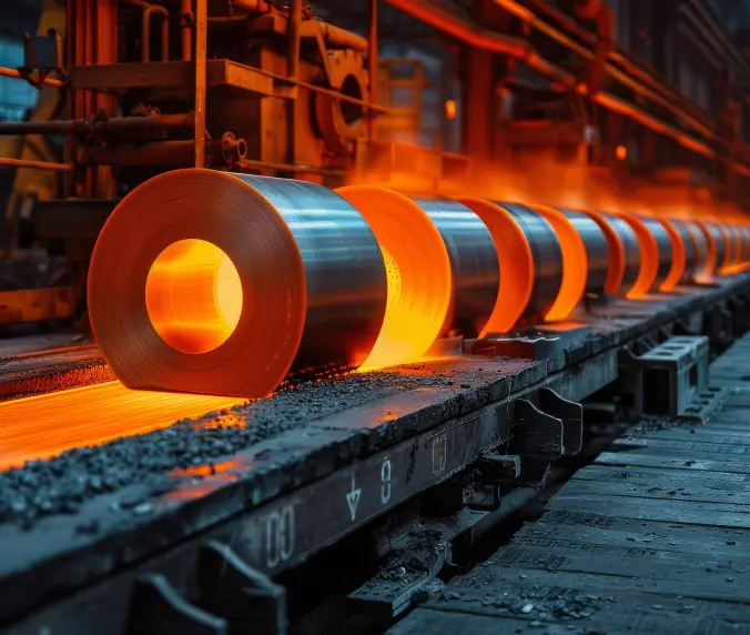
<path id="1" fill-rule="evenodd" d="M 89 315 L 133 389 L 260 397 L 311 370 L 417 361 L 444 335 L 568 318 L 750 260 L 750 229 L 178 170 L 125 196 Z"/>

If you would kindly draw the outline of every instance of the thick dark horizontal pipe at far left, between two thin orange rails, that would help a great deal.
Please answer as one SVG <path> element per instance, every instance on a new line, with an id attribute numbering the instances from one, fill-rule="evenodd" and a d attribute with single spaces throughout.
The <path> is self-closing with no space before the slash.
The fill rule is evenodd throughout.
<path id="1" fill-rule="evenodd" d="M 0 123 L 0 134 L 64 134 L 107 130 L 153 130 L 192 128 L 193 115 L 152 114 L 149 117 L 113 117 L 110 119 L 68 119 L 63 121 L 13 121 Z"/>

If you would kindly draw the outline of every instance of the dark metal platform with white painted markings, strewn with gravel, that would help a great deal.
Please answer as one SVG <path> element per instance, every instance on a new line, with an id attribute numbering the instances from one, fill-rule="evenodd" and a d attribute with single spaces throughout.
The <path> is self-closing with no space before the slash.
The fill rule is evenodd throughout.
<path id="1" fill-rule="evenodd" d="M 275 576 L 507 445 L 517 399 L 550 386 L 580 401 L 617 379 L 622 346 L 711 331 L 711 312 L 749 290 L 739 276 L 651 299 L 648 312 L 594 312 L 587 337 L 541 362 L 354 374 L 0 473 L 0 625 L 108 631 L 153 572 L 190 602 L 209 541 Z"/>

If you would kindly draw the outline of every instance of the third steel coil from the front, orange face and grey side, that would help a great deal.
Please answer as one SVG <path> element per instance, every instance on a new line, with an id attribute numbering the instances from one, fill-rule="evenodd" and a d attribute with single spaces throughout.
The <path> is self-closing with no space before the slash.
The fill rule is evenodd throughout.
<path id="1" fill-rule="evenodd" d="M 543 322 L 562 284 L 562 250 L 549 222 L 526 205 L 458 199 L 487 225 L 500 263 L 500 290 L 487 333 Z"/>

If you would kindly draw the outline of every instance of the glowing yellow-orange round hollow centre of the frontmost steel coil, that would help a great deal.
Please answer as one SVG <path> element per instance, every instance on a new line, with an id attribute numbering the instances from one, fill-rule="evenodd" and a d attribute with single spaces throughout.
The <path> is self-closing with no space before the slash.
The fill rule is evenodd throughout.
<path id="1" fill-rule="evenodd" d="M 240 321 L 240 275 L 216 245 L 182 240 L 152 264 L 145 305 L 151 324 L 170 346 L 183 353 L 207 353 L 223 344 Z"/>

